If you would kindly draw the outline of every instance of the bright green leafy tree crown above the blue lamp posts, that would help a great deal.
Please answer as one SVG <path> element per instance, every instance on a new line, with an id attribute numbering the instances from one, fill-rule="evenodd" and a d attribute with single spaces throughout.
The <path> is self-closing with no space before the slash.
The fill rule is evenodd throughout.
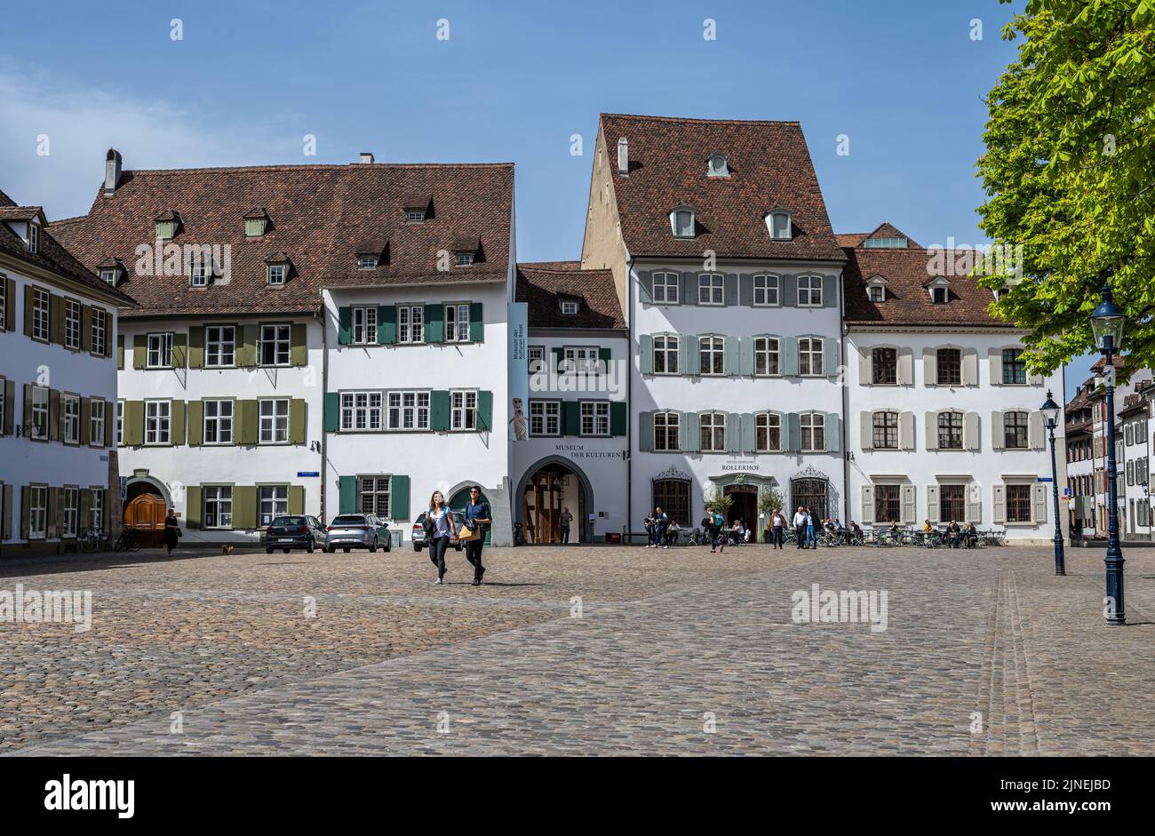
<path id="1" fill-rule="evenodd" d="M 1022 270 L 982 279 L 1008 289 L 992 312 L 1051 372 L 1093 348 L 1110 279 L 1128 371 L 1155 365 L 1155 0 L 1028 0 L 1003 36 L 1022 42 L 988 100 L 979 225 Z"/>

